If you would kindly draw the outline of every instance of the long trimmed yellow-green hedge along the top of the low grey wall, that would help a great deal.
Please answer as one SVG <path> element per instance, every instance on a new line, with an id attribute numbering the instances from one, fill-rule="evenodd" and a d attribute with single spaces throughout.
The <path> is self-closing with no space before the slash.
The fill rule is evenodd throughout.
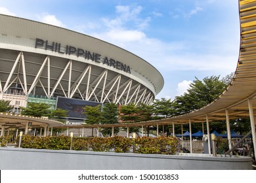
<path id="1" fill-rule="evenodd" d="M 18 139 L 16 139 L 18 144 Z M 1 142 L 1 139 L 0 139 Z M 3 143 L 4 144 L 4 143 Z M 22 148 L 70 150 L 71 137 L 34 137 L 23 135 Z M 74 137 L 72 150 L 93 150 L 96 152 L 135 152 L 139 154 L 175 154 L 176 137 Z"/>

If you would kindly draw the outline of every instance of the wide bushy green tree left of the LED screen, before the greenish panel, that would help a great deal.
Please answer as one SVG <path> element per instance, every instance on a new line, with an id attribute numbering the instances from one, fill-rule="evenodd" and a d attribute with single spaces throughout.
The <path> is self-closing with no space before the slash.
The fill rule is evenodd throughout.
<path id="1" fill-rule="evenodd" d="M 46 103 L 28 103 L 27 107 L 22 108 L 21 114 L 28 116 L 51 116 L 50 105 Z"/>

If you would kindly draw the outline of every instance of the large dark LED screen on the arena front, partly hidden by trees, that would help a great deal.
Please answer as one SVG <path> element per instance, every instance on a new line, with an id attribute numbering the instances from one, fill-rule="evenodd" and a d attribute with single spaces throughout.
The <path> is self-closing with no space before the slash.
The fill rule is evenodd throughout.
<path id="1" fill-rule="evenodd" d="M 86 116 L 83 114 L 83 112 L 85 112 L 83 107 L 87 105 L 95 107 L 101 105 L 101 103 L 83 101 L 80 99 L 69 99 L 65 97 L 57 97 L 56 101 L 56 108 L 68 110 L 68 118 L 85 119 Z"/>

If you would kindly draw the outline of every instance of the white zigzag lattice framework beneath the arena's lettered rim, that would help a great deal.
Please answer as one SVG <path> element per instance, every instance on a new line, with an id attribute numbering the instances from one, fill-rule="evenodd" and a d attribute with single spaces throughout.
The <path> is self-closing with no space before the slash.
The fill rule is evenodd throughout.
<path id="1" fill-rule="evenodd" d="M 16 50 L 0 50 L 0 93 L 19 84 L 25 95 L 56 95 L 127 105 L 154 100 L 148 88 L 120 73 L 89 63 Z"/>

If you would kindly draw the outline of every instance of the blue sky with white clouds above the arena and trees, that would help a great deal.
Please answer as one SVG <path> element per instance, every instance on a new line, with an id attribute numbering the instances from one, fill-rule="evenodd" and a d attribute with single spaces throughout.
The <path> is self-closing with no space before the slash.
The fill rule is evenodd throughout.
<path id="1" fill-rule="evenodd" d="M 116 44 L 152 64 L 174 99 L 195 77 L 236 70 L 240 46 L 234 0 L 0 0 L 0 13 L 58 25 Z"/>

